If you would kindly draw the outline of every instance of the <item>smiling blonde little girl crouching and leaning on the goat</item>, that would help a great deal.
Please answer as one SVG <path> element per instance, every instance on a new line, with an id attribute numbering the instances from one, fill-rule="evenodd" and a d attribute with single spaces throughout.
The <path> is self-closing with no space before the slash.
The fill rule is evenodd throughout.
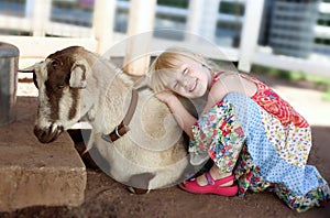
<path id="1" fill-rule="evenodd" d="M 213 161 L 209 172 L 179 187 L 223 196 L 267 189 L 297 211 L 324 205 L 329 185 L 307 165 L 311 148 L 307 121 L 256 78 L 216 68 L 200 55 L 170 47 L 156 57 L 147 75 L 156 97 L 190 138 L 191 164 Z M 177 95 L 207 97 L 198 120 Z"/>

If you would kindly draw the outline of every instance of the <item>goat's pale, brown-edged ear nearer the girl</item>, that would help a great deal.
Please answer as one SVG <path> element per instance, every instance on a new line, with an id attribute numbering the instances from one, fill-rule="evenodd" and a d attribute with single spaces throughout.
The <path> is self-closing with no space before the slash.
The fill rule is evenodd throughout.
<path id="1" fill-rule="evenodd" d="M 77 61 L 72 67 L 69 85 L 72 88 L 86 88 L 86 70 L 88 64 L 86 61 Z"/>

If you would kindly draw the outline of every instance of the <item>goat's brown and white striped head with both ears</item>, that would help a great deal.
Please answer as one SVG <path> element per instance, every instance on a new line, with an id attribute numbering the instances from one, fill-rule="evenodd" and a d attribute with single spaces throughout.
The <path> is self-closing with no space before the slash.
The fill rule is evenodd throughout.
<path id="1" fill-rule="evenodd" d="M 82 47 L 68 47 L 33 66 L 38 88 L 34 134 L 43 143 L 54 141 L 80 119 L 80 92 L 87 86 L 86 76 L 90 70 L 79 55 L 81 51 Z"/>

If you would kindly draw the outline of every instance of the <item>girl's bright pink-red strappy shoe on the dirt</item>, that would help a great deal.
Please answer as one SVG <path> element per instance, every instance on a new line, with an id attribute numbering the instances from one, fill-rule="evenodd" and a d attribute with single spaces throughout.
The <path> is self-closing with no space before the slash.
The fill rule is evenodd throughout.
<path id="1" fill-rule="evenodd" d="M 195 194 L 216 194 L 222 196 L 235 196 L 238 194 L 239 187 L 237 184 L 223 187 L 220 186 L 233 181 L 234 175 L 230 175 L 218 181 L 215 181 L 209 172 L 205 173 L 205 175 L 208 179 L 208 185 L 200 186 L 198 185 L 196 178 L 193 178 L 187 181 L 185 184 L 179 184 L 178 186 L 184 190 Z"/>

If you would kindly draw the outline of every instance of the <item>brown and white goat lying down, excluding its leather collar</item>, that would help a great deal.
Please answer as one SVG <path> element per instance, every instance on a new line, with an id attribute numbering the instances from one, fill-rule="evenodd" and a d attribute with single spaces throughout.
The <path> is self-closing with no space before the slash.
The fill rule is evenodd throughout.
<path id="1" fill-rule="evenodd" d="M 34 66 L 38 109 L 34 133 L 43 143 L 54 140 L 82 117 L 92 127 L 88 148 L 97 164 L 125 185 L 154 189 L 179 182 L 188 161 L 182 130 L 150 89 L 139 92 L 130 131 L 110 143 L 102 134 L 123 119 L 133 81 L 109 61 L 73 46 Z"/>

